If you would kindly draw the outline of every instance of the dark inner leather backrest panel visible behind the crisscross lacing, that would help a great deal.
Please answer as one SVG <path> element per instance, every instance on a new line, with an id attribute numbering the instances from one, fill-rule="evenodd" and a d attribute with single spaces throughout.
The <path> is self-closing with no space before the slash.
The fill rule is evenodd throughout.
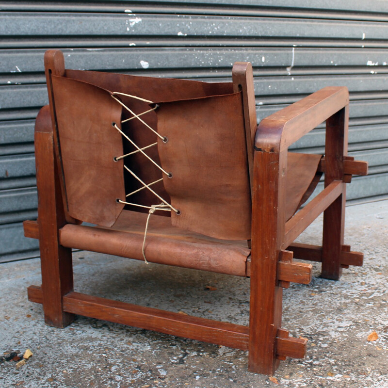
<path id="1" fill-rule="evenodd" d="M 200 81 L 187 81 L 169 78 L 139 77 L 126 74 L 104 73 L 97 71 L 84 70 L 66 70 L 65 76 L 77 80 L 87 81 L 111 92 L 121 92 L 137 97 L 142 97 L 150 101 L 168 101 L 185 98 L 196 98 L 218 94 L 233 93 L 233 85 L 230 82 L 208 83 Z M 117 96 L 136 114 L 150 109 L 146 102 L 139 101 L 130 97 Z M 123 109 L 122 119 L 125 120 L 132 115 Z M 156 113 L 150 112 L 142 116 L 142 119 L 153 129 L 157 128 Z M 146 128 L 137 119 L 131 120 L 122 125 L 123 131 L 138 146 L 148 146 L 157 141 L 157 136 Z M 135 148 L 128 141 L 123 141 L 124 154 L 132 152 Z M 145 150 L 155 162 L 160 164 L 157 147 L 151 147 Z M 125 164 L 138 175 L 145 183 L 154 182 L 162 178 L 161 171 L 149 162 L 144 155 L 140 153 L 131 155 L 125 159 Z M 142 187 L 129 172 L 124 172 L 125 190 L 130 193 Z M 164 190 L 163 182 L 155 184 L 152 188 L 162 196 L 163 199 L 170 202 L 170 197 Z M 148 190 L 142 190 L 128 198 L 128 202 L 142 204 L 146 206 L 156 205 L 160 200 Z M 135 211 L 145 211 L 138 207 L 127 206 L 126 209 Z M 169 212 L 160 211 L 159 215 L 169 216 Z"/>

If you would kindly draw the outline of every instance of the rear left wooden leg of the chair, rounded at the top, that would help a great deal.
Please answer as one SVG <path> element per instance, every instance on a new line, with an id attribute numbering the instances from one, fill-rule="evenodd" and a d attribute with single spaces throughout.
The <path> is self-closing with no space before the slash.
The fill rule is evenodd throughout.
<path id="1" fill-rule="evenodd" d="M 65 215 L 49 123 L 49 110 L 41 110 L 36 119 L 35 157 L 43 309 L 45 323 L 65 327 L 74 317 L 64 312 L 62 300 L 66 293 L 73 291 L 73 269 L 71 249 L 61 246 L 58 239 Z"/>

